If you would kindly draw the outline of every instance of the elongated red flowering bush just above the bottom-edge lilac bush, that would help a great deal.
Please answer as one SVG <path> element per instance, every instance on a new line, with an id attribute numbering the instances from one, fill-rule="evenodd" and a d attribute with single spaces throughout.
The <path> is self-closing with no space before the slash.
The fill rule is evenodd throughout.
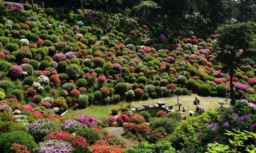
<path id="1" fill-rule="evenodd" d="M 62 139 L 72 144 L 73 147 L 83 147 L 87 145 L 85 138 L 80 135 L 73 135 L 66 132 L 53 131 L 47 134 L 43 140 L 48 139 Z"/>

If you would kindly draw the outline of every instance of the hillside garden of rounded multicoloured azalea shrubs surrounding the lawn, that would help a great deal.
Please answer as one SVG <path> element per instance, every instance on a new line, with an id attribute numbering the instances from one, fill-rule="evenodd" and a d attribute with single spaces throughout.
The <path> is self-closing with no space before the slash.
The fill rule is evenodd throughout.
<path id="1" fill-rule="evenodd" d="M 256 63 L 236 63 L 230 81 L 217 60 L 220 24 L 180 22 L 173 31 L 167 19 L 141 25 L 121 13 L 34 7 L 0 1 L 1 152 L 256 151 Z M 254 37 L 256 23 L 246 24 Z M 227 108 L 182 120 L 175 112 L 128 111 L 128 101 L 224 96 L 230 83 L 244 99 Z M 100 120 L 60 116 L 118 103 Z M 105 126 L 123 126 L 123 136 L 140 143 L 127 147 Z"/>

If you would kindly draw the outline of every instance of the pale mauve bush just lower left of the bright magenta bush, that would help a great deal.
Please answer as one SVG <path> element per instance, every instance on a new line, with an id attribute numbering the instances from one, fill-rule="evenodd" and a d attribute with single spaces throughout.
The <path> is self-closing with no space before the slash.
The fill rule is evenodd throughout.
<path id="1" fill-rule="evenodd" d="M 61 129 L 69 133 L 73 133 L 81 128 L 87 128 L 87 126 L 77 120 L 63 120 L 60 123 Z"/>

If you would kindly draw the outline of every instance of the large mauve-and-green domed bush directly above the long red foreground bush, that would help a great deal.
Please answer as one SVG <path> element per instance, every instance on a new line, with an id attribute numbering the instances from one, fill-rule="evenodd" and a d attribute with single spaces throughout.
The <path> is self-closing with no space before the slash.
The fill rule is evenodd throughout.
<path id="1" fill-rule="evenodd" d="M 60 131 L 60 125 L 49 119 L 39 119 L 28 126 L 30 134 L 35 141 L 41 141 L 44 136 L 52 131 Z"/>

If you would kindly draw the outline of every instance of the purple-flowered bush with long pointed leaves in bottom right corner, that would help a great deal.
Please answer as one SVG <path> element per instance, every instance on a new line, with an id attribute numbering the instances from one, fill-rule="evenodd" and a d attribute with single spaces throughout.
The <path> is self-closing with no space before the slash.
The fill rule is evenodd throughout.
<path id="1" fill-rule="evenodd" d="M 242 151 L 246 146 L 254 144 L 254 138 L 249 135 L 255 134 L 256 131 L 255 104 L 248 102 L 246 99 L 240 99 L 235 105 L 216 111 L 219 113 L 219 117 L 197 133 L 200 140 L 199 148 L 196 148 L 196 144 L 191 144 L 195 152 L 199 150 L 205 152 L 207 147 L 207 150 L 210 150 L 222 145 L 225 146 L 227 152 L 231 152 L 236 147 L 236 144 L 231 141 L 237 140 L 240 141 L 240 144 L 243 144 L 237 147 L 237 151 Z M 235 134 L 238 134 L 237 137 L 234 136 Z M 215 142 L 219 145 L 213 145 Z"/>

